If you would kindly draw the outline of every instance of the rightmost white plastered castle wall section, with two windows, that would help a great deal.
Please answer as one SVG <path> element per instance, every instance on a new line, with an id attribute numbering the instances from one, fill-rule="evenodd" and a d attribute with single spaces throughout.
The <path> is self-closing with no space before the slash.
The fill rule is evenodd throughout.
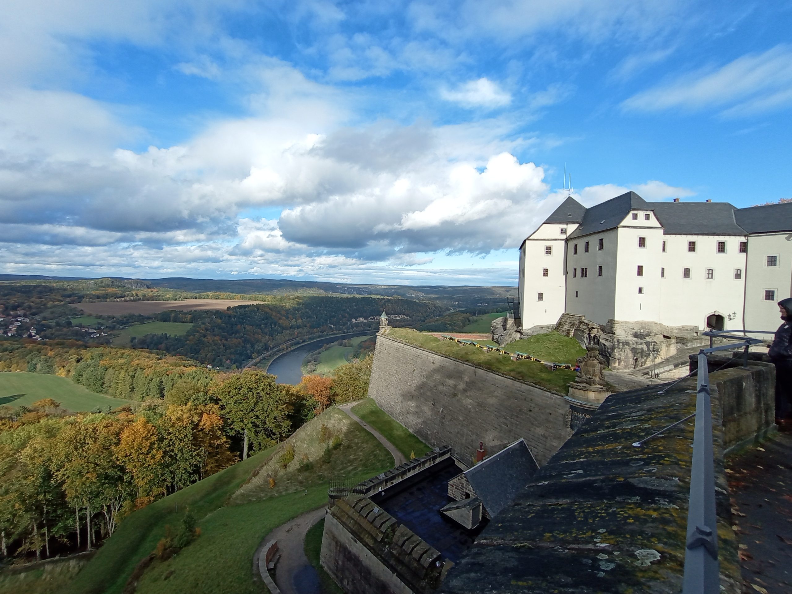
<path id="1" fill-rule="evenodd" d="M 767 256 L 778 256 L 778 265 L 767 266 Z M 781 323 L 777 302 L 792 296 L 792 233 L 748 237 L 748 275 L 745 279 L 745 327 L 775 330 Z M 764 291 L 775 299 L 764 299 Z"/>

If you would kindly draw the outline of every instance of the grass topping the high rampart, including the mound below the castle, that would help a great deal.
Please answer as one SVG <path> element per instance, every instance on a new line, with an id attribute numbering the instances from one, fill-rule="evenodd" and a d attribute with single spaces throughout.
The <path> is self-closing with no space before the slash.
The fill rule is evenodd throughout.
<path id="1" fill-rule="evenodd" d="M 482 348 L 472 345 L 459 345 L 454 341 L 444 341 L 433 337 L 431 334 L 417 332 L 412 329 L 391 328 L 387 335 L 408 345 L 425 348 L 439 355 L 451 357 L 466 363 L 497 371 L 523 382 L 533 383 L 536 386 L 558 394 L 566 394 L 569 382 L 574 381 L 576 373 L 565 369 L 548 368 L 537 361 L 513 361 L 511 357 L 498 352 L 485 352 Z M 508 345 L 507 350 L 519 350 L 529 355 L 537 356 L 542 360 L 554 363 L 574 363 L 578 356 L 585 352 L 572 338 L 563 337 L 558 333 L 539 334 L 528 337 Z M 574 343 L 574 345 L 570 344 Z"/>

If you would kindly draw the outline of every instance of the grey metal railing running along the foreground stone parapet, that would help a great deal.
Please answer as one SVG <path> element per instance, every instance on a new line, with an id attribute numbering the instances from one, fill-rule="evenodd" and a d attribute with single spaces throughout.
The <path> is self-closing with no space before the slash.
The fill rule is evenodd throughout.
<path id="1" fill-rule="evenodd" d="M 742 336 L 735 336 L 735 333 L 740 333 Z M 690 503 L 687 509 L 687 543 L 685 545 L 683 594 L 718 594 L 720 591 L 718 517 L 715 513 L 715 457 L 712 441 L 712 406 L 710 404 L 710 373 L 706 356 L 714 352 L 744 348 L 743 367 L 748 367 L 748 348 L 752 345 L 758 345 L 762 341 L 746 335 L 771 334 L 771 332 L 764 330 L 713 330 L 703 334 L 710 337 L 710 348 L 702 348 L 699 351 L 699 365 L 695 371 L 695 432 L 691 463 Z M 714 346 L 714 338 L 725 338 L 738 342 Z M 665 390 L 662 391 L 664 392 Z M 659 392 L 658 394 L 661 393 Z M 636 444 L 642 443 L 636 442 Z"/>

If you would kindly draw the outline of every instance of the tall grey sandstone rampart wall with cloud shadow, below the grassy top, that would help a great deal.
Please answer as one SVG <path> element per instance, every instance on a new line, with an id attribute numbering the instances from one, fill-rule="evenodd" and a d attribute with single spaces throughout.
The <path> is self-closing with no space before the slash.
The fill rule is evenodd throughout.
<path id="1" fill-rule="evenodd" d="M 368 395 L 427 444 L 453 447 L 464 463 L 480 441 L 492 454 L 522 437 L 541 466 L 573 433 L 561 395 L 383 335 Z"/>

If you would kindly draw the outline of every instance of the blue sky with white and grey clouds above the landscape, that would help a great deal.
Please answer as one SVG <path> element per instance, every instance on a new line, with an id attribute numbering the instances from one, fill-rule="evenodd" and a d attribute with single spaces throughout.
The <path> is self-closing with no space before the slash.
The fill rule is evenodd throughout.
<path id="1" fill-rule="evenodd" d="M 792 197 L 792 3 L 10 0 L 0 272 L 516 284 L 586 205 Z"/>

